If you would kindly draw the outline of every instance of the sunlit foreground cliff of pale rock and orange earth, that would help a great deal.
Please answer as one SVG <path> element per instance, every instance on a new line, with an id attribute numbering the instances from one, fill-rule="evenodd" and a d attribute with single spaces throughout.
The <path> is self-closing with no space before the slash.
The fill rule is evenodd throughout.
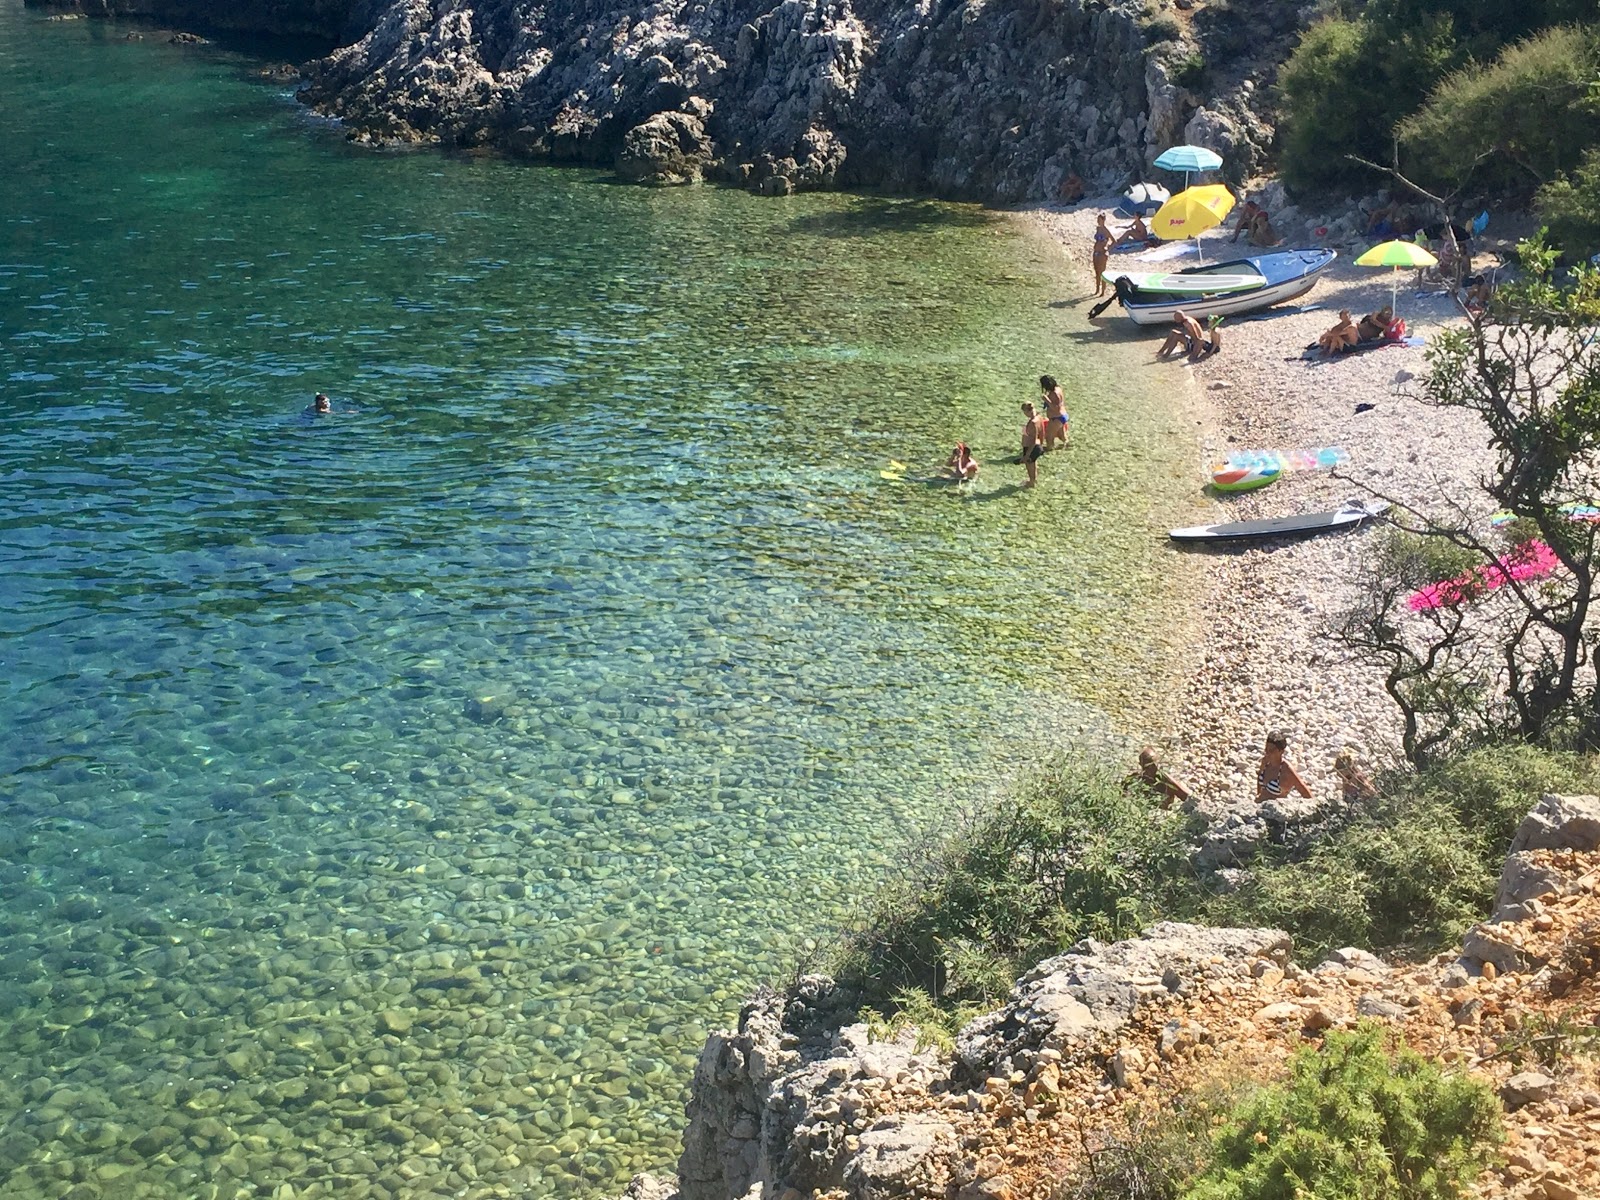
<path id="1" fill-rule="evenodd" d="M 1358 1019 L 1498 1088 L 1509 1152 L 1475 1194 L 1600 1195 L 1600 1058 L 1550 1075 L 1518 1066 L 1531 1029 L 1600 1024 L 1600 798 L 1541 800 L 1459 957 L 1406 965 L 1346 949 L 1302 970 L 1290 949 L 1275 930 L 1178 923 L 1085 941 L 1019 979 L 950 1054 L 918 1050 L 909 1032 L 874 1038 L 826 978 L 763 992 L 701 1053 L 678 1178 L 640 1176 L 627 1195 L 1066 1195 L 1074 1171 L 1126 1146 L 1130 1112 L 1267 1078 L 1296 1046 Z"/>

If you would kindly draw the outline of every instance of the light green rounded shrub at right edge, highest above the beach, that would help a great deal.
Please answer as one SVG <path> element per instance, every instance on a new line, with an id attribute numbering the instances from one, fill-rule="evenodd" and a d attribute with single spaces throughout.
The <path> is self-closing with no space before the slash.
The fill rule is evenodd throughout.
<path id="1" fill-rule="evenodd" d="M 1547 29 L 1507 48 L 1488 69 L 1445 78 L 1400 123 L 1408 168 L 1461 187 L 1531 195 L 1600 142 L 1600 102 L 1590 98 L 1600 53 L 1594 30 Z"/>

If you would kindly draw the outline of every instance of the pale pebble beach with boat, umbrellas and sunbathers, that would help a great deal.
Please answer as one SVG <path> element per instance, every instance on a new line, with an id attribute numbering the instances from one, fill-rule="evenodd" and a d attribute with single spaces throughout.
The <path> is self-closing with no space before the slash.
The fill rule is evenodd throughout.
<path id="1" fill-rule="evenodd" d="M 1090 267 L 1094 218 L 1114 205 L 1109 198 L 1027 213 L 1062 246 L 1064 290 L 1085 315 L 1096 302 Z M 1114 230 L 1122 224 L 1112 219 Z M 1323 229 L 1323 237 L 1314 229 Z M 1370 245 L 1355 221 L 1307 216 L 1286 221 L 1280 232 L 1285 248 L 1331 245 L 1339 259 L 1293 306 L 1224 322 L 1224 347 L 1213 358 L 1158 362 L 1163 330 L 1134 326 L 1117 306 L 1090 322 L 1107 339 L 1147 344 L 1138 370 L 1170 384 L 1174 405 L 1194 413 L 1195 507 L 1174 514 L 1173 525 L 1336 509 L 1368 488 L 1419 506 L 1445 493 L 1478 491 L 1474 480 L 1490 462 L 1486 430 L 1474 413 L 1421 400 L 1424 347 L 1397 344 L 1334 360 L 1302 357 L 1338 322 L 1339 309 L 1360 318 L 1390 301 L 1390 274 L 1354 262 Z M 1230 224 L 1210 234 L 1205 259 L 1243 253 L 1243 243 L 1227 242 L 1230 235 Z M 1112 266 L 1158 269 L 1141 258 L 1118 254 Z M 1165 262 L 1179 269 L 1195 259 Z M 1410 334 L 1429 339 L 1462 323 L 1456 302 L 1438 285 L 1419 291 L 1416 283 L 1416 272 L 1402 272 L 1397 310 Z M 1336 470 L 1286 474 L 1254 493 L 1206 498 L 1202 491 L 1211 464 L 1232 451 L 1322 446 L 1341 448 L 1349 459 Z M 1493 504 L 1482 498 L 1482 507 L 1486 515 Z M 1354 595 L 1354 571 L 1371 528 L 1230 549 L 1173 547 L 1173 555 L 1203 562 L 1194 594 L 1200 635 L 1187 661 L 1174 664 L 1171 725 L 1150 728 L 1147 739 L 1208 816 L 1256 808 L 1254 768 L 1270 728 L 1290 736 L 1288 758 L 1312 790 L 1312 800 L 1282 805 L 1288 816 L 1309 816 L 1338 798 L 1333 757 L 1342 747 L 1354 747 L 1374 770 L 1400 758 L 1398 714 L 1382 678 L 1326 635 L 1333 616 Z"/>

